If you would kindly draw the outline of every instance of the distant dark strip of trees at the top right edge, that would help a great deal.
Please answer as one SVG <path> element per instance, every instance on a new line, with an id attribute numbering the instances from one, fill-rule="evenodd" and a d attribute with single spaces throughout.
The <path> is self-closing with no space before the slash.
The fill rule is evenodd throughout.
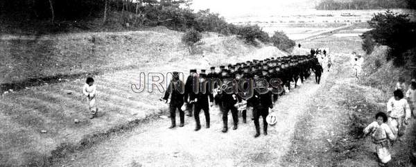
<path id="1" fill-rule="evenodd" d="M 415 8 L 414 0 L 322 0 L 317 10 L 370 10 L 387 8 Z"/>

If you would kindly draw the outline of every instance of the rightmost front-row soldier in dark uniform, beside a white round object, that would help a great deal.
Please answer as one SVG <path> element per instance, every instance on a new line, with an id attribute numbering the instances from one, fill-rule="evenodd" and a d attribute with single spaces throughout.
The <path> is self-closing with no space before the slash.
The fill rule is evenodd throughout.
<path id="1" fill-rule="evenodd" d="M 267 135 L 268 123 L 266 122 L 266 116 L 268 116 L 269 108 L 273 107 L 272 93 L 268 91 L 266 94 L 261 94 L 261 89 L 268 89 L 262 82 L 257 82 L 257 89 L 254 90 L 254 96 L 248 99 L 250 106 L 253 106 L 254 125 L 256 127 L 256 134 L 254 137 L 260 136 L 260 116 L 263 117 L 263 134 Z"/>

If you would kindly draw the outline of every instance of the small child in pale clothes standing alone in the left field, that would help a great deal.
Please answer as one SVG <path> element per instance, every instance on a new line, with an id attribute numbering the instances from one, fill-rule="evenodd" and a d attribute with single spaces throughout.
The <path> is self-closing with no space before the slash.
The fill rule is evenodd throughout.
<path id="1" fill-rule="evenodd" d="M 87 78 L 87 81 L 83 87 L 83 94 L 87 96 L 89 106 L 89 118 L 94 118 L 98 112 L 97 107 L 97 89 L 94 85 L 94 78 Z"/>

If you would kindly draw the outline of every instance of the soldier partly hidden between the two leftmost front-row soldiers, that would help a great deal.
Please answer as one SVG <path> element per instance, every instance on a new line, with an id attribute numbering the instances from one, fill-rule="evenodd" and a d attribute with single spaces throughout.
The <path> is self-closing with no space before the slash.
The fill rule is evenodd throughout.
<path id="1" fill-rule="evenodd" d="M 190 74 L 187 78 L 187 82 L 185 82 L 185 103 L 187 105 L 187 116 L 192 116 L 192 112 L 193 112 L 193 103 L 191 103 L 191 100 L 189 100 L 189 96 L 191 96 L 191 94 L 194 94 L 194 90 L 196 89 L 196 87 L 194 87 L 194 85 L 196 85 L 196 83 L 198 82 L 198 73 L 196 73 L 196 69 L 191 69 Z"/>

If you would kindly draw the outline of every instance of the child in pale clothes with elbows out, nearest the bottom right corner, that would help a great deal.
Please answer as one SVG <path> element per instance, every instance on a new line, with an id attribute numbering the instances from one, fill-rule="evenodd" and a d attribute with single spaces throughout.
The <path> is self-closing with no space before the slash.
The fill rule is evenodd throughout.
<path id="1" fill-rule="evenodd" d="M 388 121 L 387 115 L 383 112 L 376 114 L 376 121 L 370 123 L 364 129 L 364 136 L 370 134 L 372 143 L 375 145 L 377 156 L 379 157 L 380 166 L 385 166 L 392 159 L 389 152 L 389 140 L 396 139 L 390 127 L 385 123 Z"/>

